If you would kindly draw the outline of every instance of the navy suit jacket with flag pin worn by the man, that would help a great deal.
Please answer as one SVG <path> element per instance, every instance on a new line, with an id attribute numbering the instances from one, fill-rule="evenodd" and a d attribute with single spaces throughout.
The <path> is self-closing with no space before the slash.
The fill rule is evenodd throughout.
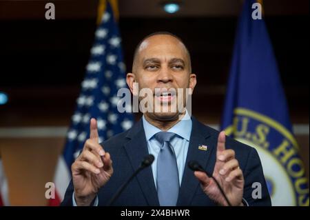
<path id="1" fill-rule="evenodd" d="M 218 131 L 203 125 L 194 117 L 192 117 L 192 122 L 192 134 L 177 206 L 216 206 L 216 203 L 211 201 L 201 189 L 193 171 L 187 167 L 187 162 L 198 161 L 205 170 L 213 173 L 216 163 Z M 110 181 L 98 192 L 99 206 L 106 206 L 116 190 L 140 166 L 145 155 L 149 154 L 142 119 L 134 124 L 130 130 L 116 134 L 101 145 L 106 152 L 110 152 L 114 168 L 114 174 Z M 199 145 L 207 146 L 207 150 L 199 150 Z M 229 137 L 226 139 L 226 148 L 231 148 L 236 152 L 236 159 L 239 161 L 240 169 L 242 169 L 245 178 L 243 198 L 249 203 L 249 206 L 271 206 L 262 165 L 256 150 Z M 253 199 L 251 196 L 255 189 L 251 188 L 254 182 L 261 183 L 261 199 Z M 62 206 L 72 206 L 73 191 L 71 181 L 61 203 Z M 159 206 L 150 166 L 132 179 L 113 206 Z"/>

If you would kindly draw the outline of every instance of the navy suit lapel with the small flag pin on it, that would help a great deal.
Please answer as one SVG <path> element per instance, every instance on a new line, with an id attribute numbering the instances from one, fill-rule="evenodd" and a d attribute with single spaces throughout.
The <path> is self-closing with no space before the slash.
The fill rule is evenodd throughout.
<path id="1" fill-rule="evenodd" d="M 207 167 L 207 161 L 214 148 L 207 127 L 200 124 L 192 117 L 193 128 L 191 138 L 189 140 L 189 149 L 183 173 L 183 179 L 180 186 L 177 206 L 190 206 L 194 197 L 199 181 L 194 176 L 194 172 L 187 166 L 189 161 L 197 161 L 203 168 Z M 207 146 L 207 150 L 199 150 L 199 145 Z"/>

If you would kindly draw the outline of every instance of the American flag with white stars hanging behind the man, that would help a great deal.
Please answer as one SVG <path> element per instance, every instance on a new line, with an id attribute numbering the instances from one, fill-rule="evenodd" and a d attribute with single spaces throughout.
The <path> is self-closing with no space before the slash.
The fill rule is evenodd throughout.
<path id="1" fill-rule="evenodd" d="M 58 205 L 71 179 L 70 167 L 90 136 L 90 119 L 97 119 L 99 142 L 132 127 L 133 116 L 129 109 L 117 110 L 120 88 L 126 88 L 125 64 L 121 50 L 121 37 L 112 8 L 107 1 L 101 24 L 96 30 L 90 61 L 86 66 L 81 93 L 76 100 L 65 148 L 56 167 L 56 198 L 50 205 Z M 127 106 L 130 107 L 130 106 Z"/>

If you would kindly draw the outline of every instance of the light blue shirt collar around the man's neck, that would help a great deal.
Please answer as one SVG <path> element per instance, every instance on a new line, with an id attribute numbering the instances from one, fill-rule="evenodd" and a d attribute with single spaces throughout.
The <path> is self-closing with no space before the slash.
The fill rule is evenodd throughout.
<path id="1" fill-rule="evenodd" d="M 159 128 L 153 126 L 151 123 L 149 123 L 145 119 L 144 115 L 142 117 L 142 121 L 147 141 L 149 141 L 149 139 L 151 139 L 154 136 L 154 134 L 162 131 Z M 187 139 L 187 141 L 189 141 L 192 132 L 192 119 L 191 117 L 189 117 L 187 110 L 185 112 L 183 120 L 178 121 L 178 123 L 176 123 L 172 128 L 167 130 L 167 132 L 173 132 L 175 134 L 178 134 L 178 136 L 182 137 L 183 139 Z"/>

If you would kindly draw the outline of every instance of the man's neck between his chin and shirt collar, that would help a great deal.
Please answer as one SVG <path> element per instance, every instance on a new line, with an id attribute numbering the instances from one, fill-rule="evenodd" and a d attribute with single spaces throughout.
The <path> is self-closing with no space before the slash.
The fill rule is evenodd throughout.
<path id="1" fill-rule="evenodd" d="M 185 112 L 177 114 L 176 117 L 173 117 L 171 119 L 157 119 L 154 117 L 149 117 L 149 115 L 147 114 L 144 114 L 144 117 L 148 123 L 152 124 L 152 126 L 155 126 L 156 128 L 163 130 L 163 131 L 167 131 L 170 128 L 172 128 L 184 116 L 185 116 Z"/>

